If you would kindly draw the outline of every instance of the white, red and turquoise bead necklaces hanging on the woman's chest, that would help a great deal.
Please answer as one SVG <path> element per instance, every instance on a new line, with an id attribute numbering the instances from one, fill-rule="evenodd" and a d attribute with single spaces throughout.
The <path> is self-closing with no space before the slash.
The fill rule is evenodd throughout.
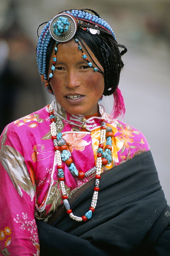
<path id="1" fill-rule="evenodd" d="M 62 199 L 63 199 L 63 203 L 64 206 L 67 210 L 67 214 L 69 214 L 70 218 L 76 220 L 76 221 L 86 221 L 87 219 L 90 219 L 92 217 L 92 212 L 94 212 L 96 204 L 97 204 L 97 199 L 98 199 L 98 191 L 100 190 L 99 188 L 99 183 L 100 183 L 100 174 L 102 171 L 102 165 L 106 165 L 107 162 L 109 162 L 107 159 L 102 157 L 102 153 L 98 153 L 97 154 L 97 160 L 96 160 L 96 175 L 95 175 L 95 187 L 94 187 L 94 193 L 93 193 L 93 197 L 92 197 L 92 201 L 91 201 L 91 207 L 89 208 L 89 211 L 85 213 L 85 215 L 83 215 L 82 217 L 78 217 L 75 216 L 72 213 L 72 210 L 70 209 L 70 205 L 68 202 L 68 196 L 66 195 L 66 190 L 65 190 L 65 183 L 64 183 L 64 171 L 63 171 L 63 165 L 62 165 L 62 160 L 65 161 L 66 165 L 68 165 L 70 168 L 71 165 L 75 166 L 72 163 L 72 159 L 70 158 L 70 153 L 67 151 L 67 146 L 64 145 L 65 141 L 62 138 L 62 134 L 58 133 L 57 134 L 57 128 L 56 128 L 56 123 L 55 123 L 55 117 L 54 117 L 54 101 L 51 103 L 51 105 L 49 106 L 49 115 L 50 115 L 50 121 L 51 121 L 51 136 L 52 136 L 52 140 L 54 143 L 54 150 L 55 150 L 55 156 L 56 156 L 56 162 L 57 162 L 57 169 L 58 169 L 58 177 L 59 177 L 59 181 L 60 181 L 60 188 L 62 191 Z M 102 114 L 103 119 L 101 120 L 101 137 L 100 137 L 100 142 L 99 142 L 99 148 L 103 151 L 103 143 L 105 141 L 106 138 L 106 134 L 110 135 L 107 136 L 107 141 L 108 141 L 108 137 L 111 137 L 111 127 L 106 127 L 106 122 L 104 119 L 104 113 Z M 107 131 L 107 130 L 109 131 Z M 107 131 L 107 133 L 106 133 Z M 56 135 L 57 134 L 57 135 Z M 110 140 L 110 139 L 109 139 Z M 106 141 L 106 144 L 107 144 Z M 106 150 L 112 150 L 112 146 L 110 146 L 109 148 L 106 145 Z M 60 153 L 60 151 L 62 151 L 62 153 Z M 68 161 L 68 162 L 67 162 Z M 75 167 L 76 168 L 76 167 Z M 93 169 L 93 168 L 92 168 Z M 77 169 L 76 169 L 77 170 Z M 72 172 L 71 172 L 72 173 Z M 75 174 L 73 174 L 75 175 Z M 83 176 L 84 177 L 84 176 Z"/>

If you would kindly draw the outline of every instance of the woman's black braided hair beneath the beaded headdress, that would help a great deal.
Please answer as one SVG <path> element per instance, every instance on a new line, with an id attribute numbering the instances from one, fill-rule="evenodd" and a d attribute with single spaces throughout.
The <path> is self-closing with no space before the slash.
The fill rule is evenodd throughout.
<path id="1" fill-rule="evenodd" d="M 99 14 L 96 13 L 94 10 L 81 9 L 81 11 L 83 10 L 89 10 L 96 16 L 100 17 Z M 100 34 L 93 35 L 89 31 L 84 31 L 82 27 L 98 29 L 100 30 Z M 113 94 L 116 88 L 118 87 L 120 71 L 124 66 L 121 57 L 127 52 L 127 48 L 124 45 L 118 44 L 113 35 L 109 31 L 106 31 L 105 29 L 100 27 L 95 27 L 92 24 L 88 25 L 83 21 L 81 21 L 81 23 L 78 24 L 78 29 L 76 31 L 75 37 L 79 39 L 80 43 L 85 48 L 88 54 L 89 52 L 86 48 L 86 45 L 90 48 L 90 50 L 93 52 L 93 54 L 98 59 L 99 63 L 104 69 L 105 86 L 103 95 L 107 96 Z M 84 45 L 84 43 L 86 45 Z M 51 39 L 46 53 L 46 74 L 48 74 L 48 66 L 54 44 L 55 40 Z M 120 52 L 119 48 L 123 48 L 124 50 Z M 93 63 L 95 64 L 94 61 Z"/>

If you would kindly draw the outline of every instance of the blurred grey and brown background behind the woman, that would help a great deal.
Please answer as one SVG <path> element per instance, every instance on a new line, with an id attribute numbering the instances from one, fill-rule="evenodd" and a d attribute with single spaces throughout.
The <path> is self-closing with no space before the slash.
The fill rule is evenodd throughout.
<path id="1" fill-rule="evenodd" d="M 111 25 L 117 41 L 128 48 L 119 83 L 126 105 L 123 121 L 147 138 L 170 204 L 170 2 L 167 0 L 1 0 L 1 132 L 7 123 L 53 100 L 42 87 L 36 66 L 37 28 L 70 8 L 94 9 Z M 110 113 L 112 96 L 101 103 Z"/>

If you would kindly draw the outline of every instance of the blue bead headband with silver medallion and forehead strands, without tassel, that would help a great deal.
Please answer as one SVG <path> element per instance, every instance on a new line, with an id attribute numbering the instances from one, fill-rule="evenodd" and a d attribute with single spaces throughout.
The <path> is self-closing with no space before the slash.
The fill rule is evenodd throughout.
<path id="1" fill-rule="evenodd" d="M 81 27 L 81 22 L 83 22 Z M 86 28 L 87 24 L 87 28 Z M 89 25 L 93 25 L 92 28 L 89 28 Z M 110 27 L 110 25 L 96 15 L 92 15 L 91 13 L 84 12 L 81 10 L 71 10 L 60 13 L 56 15 L 52 20 L 50 20 L 44 27 L 43 31 L 40 34 L 37 45 L 37 64 L 38 70 L 41 75 L 42 83 L 45 85 L 48 92 L 53 94 L 52 88 L 50 86 L 49 80 L 53 77 L 53 71 L 55 70 L 54 65 L 51 67 L 52 72 L 50 73 L 50 79 L 47 79 L 46 74 L 46 52 L 48 49 L 48 45 L 53 38 L 56 41 L 56 44 L 59 42 L 67 42 L 71 40 L 77 31 L 77 27 L 80 27 L 85 31 L 85 33 L 91 34 L 100 34 L 100 29 L 104 29 L 108 34 L 111 34 L 115 38 L 115 34 Z M 78 40 L 78 39 L 77 39 Z M 75 40 L 77 43 L 78 41 Z M 78 48 L 83 52 L 80 44 L 78 43 Z M 57 45 L 55 47 L 55 55 L 53 58 L 53 64 L 56 62 L 56 52 Z M 83 58 L 87 59 L 84 53 Z M 85 56 L 84 56 L 85 55 Z M 88 61 L 88 65 L 93 68 L 94 71 L 99 71 L 101 73 L 102 70 L 98 67 L 93 67 L 92 63 Z M 96 65 L 96 64 L 95 64 Z M 104 74 L 104 73 L 103 73 Z"/>

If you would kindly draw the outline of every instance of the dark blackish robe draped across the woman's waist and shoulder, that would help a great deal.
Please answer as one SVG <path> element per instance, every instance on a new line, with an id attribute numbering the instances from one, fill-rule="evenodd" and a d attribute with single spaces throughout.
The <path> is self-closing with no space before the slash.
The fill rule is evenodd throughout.
<path id="1" fill-rule="evenodd" d="M 82 186 L 87 187 L 82 193 L 80 188 L 72 195 L 70 208 L 74 215 L 82 216 L 89 210 L 94 182 L 95 179 L 90 180 Z M 36 220 L 40 256 L 169 256 L 170 207 L 150 151 L 101 177 L 91 219 L 77 222 L 65 209 L 60 210 L 49 220 L 51 225 Z"/>

